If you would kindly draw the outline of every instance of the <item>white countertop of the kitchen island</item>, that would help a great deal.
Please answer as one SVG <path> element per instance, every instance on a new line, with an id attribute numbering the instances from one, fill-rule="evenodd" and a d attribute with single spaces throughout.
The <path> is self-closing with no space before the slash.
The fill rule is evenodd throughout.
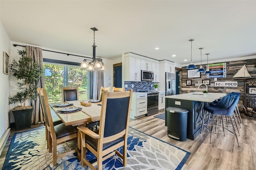
<path id="1" fill-rule="evenodd" d="M 180 100 L 192 100 L 192 101 L 199 101 L 199 102 L 213 102 L 223 96 L 226 93 L 208 93 L 205 95 L 203 92 L 192 92 L 192 93 L 185 93 L 185 94 L 176 94 L 172 96 L 165 96 L 165 98 L 170 99 L 180 99 Z"/>

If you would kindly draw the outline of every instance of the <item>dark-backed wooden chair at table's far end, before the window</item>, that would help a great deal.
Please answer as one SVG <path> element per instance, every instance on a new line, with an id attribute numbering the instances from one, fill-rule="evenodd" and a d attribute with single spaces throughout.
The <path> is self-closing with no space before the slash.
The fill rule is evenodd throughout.
<path id="1" fill-rule="evenodd" d="M 62 87 L 62 102 L 79 100 L 78 87 Z"/>

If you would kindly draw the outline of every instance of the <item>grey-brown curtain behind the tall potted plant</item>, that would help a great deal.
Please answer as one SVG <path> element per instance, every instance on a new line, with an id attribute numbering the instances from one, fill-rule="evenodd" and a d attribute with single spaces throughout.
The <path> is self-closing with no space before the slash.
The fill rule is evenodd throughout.
<path id="1" fill-rule="evenodd" d="M 41 68 L 43 68 L 43 55 L 42 55 L 42 49 L 38 47 L 31 47 L 26 46 L 27 55 L 34 58 L 34 62 L 38 62 L 41 65 Z M 38 69 L 40 68 L 40 65 L 38 65 Z M 40 87 L 44 88 L 44 74 L 42 74 L 41 79 L 38 80 L 38 82 L 35 82 L 35 84 Z M 37 96 L 37 95 L 36 95 Z M 37 124 L 39 122 L 43 123 L 43 112 L 39 104 L 39 99 L 31 101 L 33 112 L 32 112 L 32 124 Z"/>

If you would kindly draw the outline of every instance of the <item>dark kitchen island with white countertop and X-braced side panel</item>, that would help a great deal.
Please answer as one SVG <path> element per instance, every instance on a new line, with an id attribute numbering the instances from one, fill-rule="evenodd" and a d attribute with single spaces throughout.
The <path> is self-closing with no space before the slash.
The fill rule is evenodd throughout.
<path id="1" fill-rule="evenodd" d="M 166 96 L 165 108 L 178 107 L 188 110 L 187 138 L 194 140 L 202 128 L 204 106 L 225 95 L 226 93 L 208 93 L 206 95 L 202 92 L 192 92 Z"/>

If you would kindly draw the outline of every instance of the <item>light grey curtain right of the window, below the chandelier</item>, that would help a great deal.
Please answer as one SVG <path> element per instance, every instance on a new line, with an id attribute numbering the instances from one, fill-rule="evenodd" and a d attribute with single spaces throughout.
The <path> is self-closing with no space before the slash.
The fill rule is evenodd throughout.
<path id="1" fill-rule="evenodd" d="M 102 61 L 102 59 L 100 59 Z M 100 88 L 104 87 L 104 71 L 99 71 L 95 69 L 93 71 L 93 82 L 92 82 L 92 99 L 99 99 L 100 97 Z"/>

